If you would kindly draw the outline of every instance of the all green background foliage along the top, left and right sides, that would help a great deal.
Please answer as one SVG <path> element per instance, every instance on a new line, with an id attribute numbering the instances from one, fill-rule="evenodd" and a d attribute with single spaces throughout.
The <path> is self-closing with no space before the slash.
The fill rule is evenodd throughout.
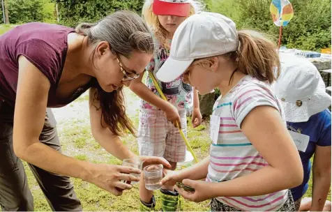
<path id="1" fill-rule="evenodd" d="M 140 14 L 144 0 L 7 0 L 11 24 L 56 22 L 59 6 L 60 24 L 75 27 L 80 22 L 97 22 L 116 10 Z M 290 0 L 294 17 L 282 30 L 282 45 L 301 50 L 331 47 L 331 0 Z M 271 19 L 271 0 L 204 0 L 206 10 L 232 18 L 238 29 L 255 29 L 277 40 L 279 28 Z M 2 10 L 0 10 L 2 17 Z"/>

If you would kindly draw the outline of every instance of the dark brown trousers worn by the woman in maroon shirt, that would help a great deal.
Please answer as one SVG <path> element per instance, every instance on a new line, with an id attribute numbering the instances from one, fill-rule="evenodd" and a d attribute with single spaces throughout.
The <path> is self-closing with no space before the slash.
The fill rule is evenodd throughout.
<path id="1" fill-rule="evenodd" d="M 2 211 L 33 211 L 27 174 L 22 161 L 13 151 L 13 117 L 14 108 L 0 100 L 0 205 Z M 47 109 L 39 140 L 61 152 L 51 109 Z M 67 176 L 47 172 L 31 164 L 29 167 L 52 211 L 82 211 L 80 200 Z"/>

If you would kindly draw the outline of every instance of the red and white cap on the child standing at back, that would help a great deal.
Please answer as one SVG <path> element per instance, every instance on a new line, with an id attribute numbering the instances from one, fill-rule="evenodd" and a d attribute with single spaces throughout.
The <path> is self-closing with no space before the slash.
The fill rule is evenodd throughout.
<path id="1" fill-rule="evenodd" d="M 190 0 L 153 0 L 153 13 L 156 15 L 188 16 Z"/>

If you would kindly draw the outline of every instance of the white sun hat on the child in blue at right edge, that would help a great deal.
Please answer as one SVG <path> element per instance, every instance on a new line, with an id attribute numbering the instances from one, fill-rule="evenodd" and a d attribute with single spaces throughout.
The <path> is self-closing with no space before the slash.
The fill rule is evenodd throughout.
<path id="1" fill-rule="evenodd" d="M 324 81 L 317 68 L 305 58 L 280 54 L 281 73 L 273 84 L 281 100 L 286 121 L 305 122 L 331 105 Z"/>

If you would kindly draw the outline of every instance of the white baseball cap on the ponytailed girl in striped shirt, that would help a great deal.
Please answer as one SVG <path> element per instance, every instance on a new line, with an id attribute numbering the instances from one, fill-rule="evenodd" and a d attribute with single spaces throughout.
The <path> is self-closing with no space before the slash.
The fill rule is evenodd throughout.
<path id="1" fill-rule="evenodd" d="M 156 76 L 162 82 L 172 82 L 195 59 L 234 52 L 238 43 L 235 23 L 228 17 L 208 12 L 191 15 L 176 29 L 169 57 Z"/>

